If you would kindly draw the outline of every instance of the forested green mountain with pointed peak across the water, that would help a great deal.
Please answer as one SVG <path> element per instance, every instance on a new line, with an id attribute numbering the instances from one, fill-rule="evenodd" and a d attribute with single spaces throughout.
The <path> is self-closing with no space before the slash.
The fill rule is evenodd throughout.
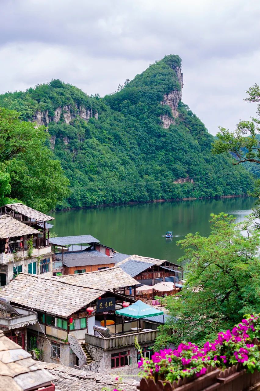
<path id="1" fill-rule="evenodd" d="M 0 106 L 48 128 L 71 184 L 59 207 L 247 193 L 251 174 L 211 154 L 214 138 L 182 103 L 182 86 L 170 55 L 104 98 L 52 80 L 0 95 Z"/>

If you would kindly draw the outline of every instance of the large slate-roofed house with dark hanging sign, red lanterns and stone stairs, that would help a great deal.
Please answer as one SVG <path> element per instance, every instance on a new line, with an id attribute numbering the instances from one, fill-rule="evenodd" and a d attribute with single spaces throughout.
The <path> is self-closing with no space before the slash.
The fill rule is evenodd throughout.
<path id="1" fill-rule="evenodd" d="M 37 312 L 37 322 L 26 326 L 27 349 L 43 351 L 43 361 L 102 373 L 133 373 L 135 337 L 148 352 L 157 336 L 149 319 L 138 323 L 115 313 L 135 302 L 136 285 L 118 267 L 52 278 L 20 273 L 1 296 L 14 308 Z M 133 296 L 124 295 L 130 286 Z"/>

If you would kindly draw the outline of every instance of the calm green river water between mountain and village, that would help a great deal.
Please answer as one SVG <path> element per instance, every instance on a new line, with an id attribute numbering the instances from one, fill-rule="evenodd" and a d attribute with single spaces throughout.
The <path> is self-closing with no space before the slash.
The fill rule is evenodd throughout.
<path id="1" fill-rule="evenodd" d="M 210 213 L 228 212 L 242 221 L 255 199 L 232 198 L 106 206 L 52 213 L 58 236 L 93 235 L 102 244 L 125 254 L 176 261 L 183 251 L 176 241 L 189 232 L 208 235 Z M 173 231 L 173 239 L 162 237 Z"/>

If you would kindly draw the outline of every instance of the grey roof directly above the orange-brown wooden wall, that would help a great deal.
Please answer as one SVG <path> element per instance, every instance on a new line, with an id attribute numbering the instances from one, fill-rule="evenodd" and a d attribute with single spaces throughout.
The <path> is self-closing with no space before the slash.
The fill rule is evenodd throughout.
<path id="1" fill-rule="evenodd" d="M 62 261 L 62 254 L 55 254 L 58 261 Z M 100 251 L 79 251 L 77 253 L 66 252 L 63 254 L 63 263 L 67 267 L 114 264 L 110 256 Z"/>

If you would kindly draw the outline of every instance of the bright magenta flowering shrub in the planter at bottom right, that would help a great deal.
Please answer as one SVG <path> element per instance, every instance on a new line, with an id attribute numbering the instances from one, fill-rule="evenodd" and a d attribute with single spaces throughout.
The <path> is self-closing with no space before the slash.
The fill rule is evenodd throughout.
<path id="1" fill-rule="evenodd" d="M 140 375 L 155 380 L 173 382 L 184 377 L 200 377 L 208 366 L 226 368 L 239 364 L 253 373 L 260 371 L 258 342 L 260 314 L 246 315 L 233 330 L 218 334 L 214 343 L 206 342 L 203 348 L 181 343 L 177 349 L 164 349 L 154 353 L 151 360 L 141 357 L 138 363 Z"/>

